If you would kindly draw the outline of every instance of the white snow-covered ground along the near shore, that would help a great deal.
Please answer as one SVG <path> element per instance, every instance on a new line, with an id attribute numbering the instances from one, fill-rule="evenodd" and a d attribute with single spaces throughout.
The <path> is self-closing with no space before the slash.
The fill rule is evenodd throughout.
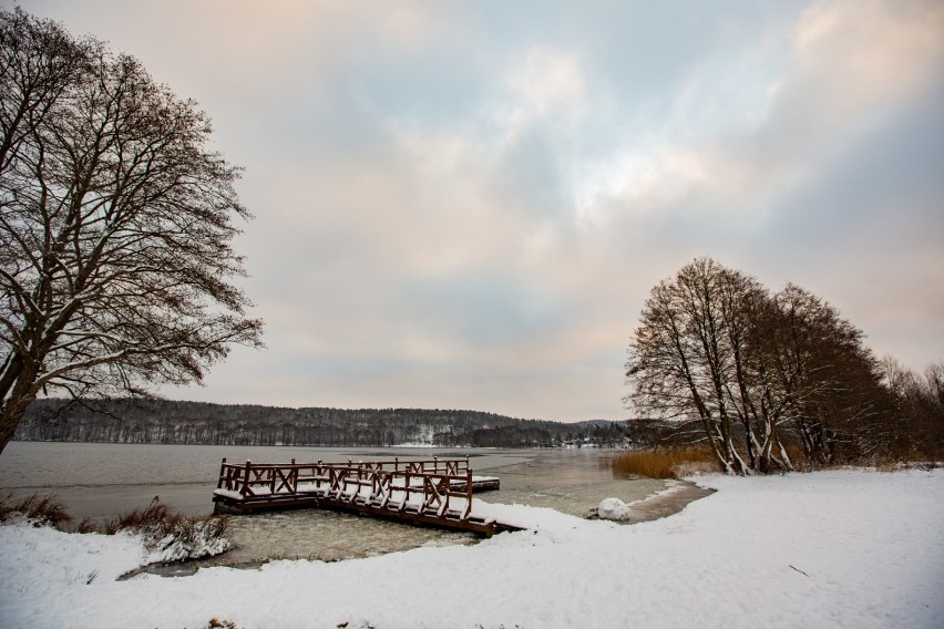
<path id="1" fill-rule="evenodd" d="M 656 522 L 476 502 L 532 529 L 178 578 L 115 581 L 129 536 L 0 526 L 0 627 L 944 627 L 944 470 L 697 482 L 718 492 Z"/>

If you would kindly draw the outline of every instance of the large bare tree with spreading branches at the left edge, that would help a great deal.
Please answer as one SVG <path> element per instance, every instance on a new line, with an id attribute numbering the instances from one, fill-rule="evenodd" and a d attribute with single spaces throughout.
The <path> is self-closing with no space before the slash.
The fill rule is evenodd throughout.
<path id="1" fill-rule="evenodd" d="M 260 346 L 211 124 L 133 58 L 0 13 L 0 452 L 40 392 L 199 382 Z"/>

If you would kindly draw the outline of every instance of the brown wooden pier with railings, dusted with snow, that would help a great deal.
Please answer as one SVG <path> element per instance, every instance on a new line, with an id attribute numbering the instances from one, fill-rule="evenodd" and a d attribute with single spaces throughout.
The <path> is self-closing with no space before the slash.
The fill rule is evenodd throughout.
<path id="1" fill-rule="evenodd" d="M 318 507 L 491 536 L 519 527 L 478 517 L 472 494 L 494 491 L 468 458 L 347 463 L 227 463 L 213 493 L 218 511 Z"/>

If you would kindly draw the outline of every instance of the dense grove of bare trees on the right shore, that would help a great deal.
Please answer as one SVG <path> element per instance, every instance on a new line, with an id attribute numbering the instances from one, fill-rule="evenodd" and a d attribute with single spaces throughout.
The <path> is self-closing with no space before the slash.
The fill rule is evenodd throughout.
<path id="1" fill-rule="evenodd" d="M 894 372 L 894 373 L 893 373 Z M 899 373 L 901 372 L 901 373 Z M 944 368 L 926 383 L 800 287 L 698 258 L 653 288 L 629 343 L 625 402 L 705 443 L 725 471 L 940 455 Z M 890 386 L 890 378 L 895 384 Z"/>

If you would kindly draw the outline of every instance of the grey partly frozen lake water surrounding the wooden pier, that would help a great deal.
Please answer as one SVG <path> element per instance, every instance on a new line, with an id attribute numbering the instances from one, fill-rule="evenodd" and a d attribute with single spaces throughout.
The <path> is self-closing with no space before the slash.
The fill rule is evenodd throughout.
<path id="1" fill-rule="evenodd" d="M 486 502 L 551 507 L 584 515 L 603 498 L 640 499 L 666 483 L 614 478 L 598 450 L 337 448 L 12 442 L 0 455 L 0 489 L 58 496 L 76 518 L 103 519 L 146 506 L 154 496 L 188 515 L 213 512 L 223 457 L 230 463 L 370 461 L 469 456 L 476 474 L 497 476 Z M 473 544 L 470 534 L 418 528 L 319 509 L 233 516 L 237 548 L 213 563 L 256 564 L 269 557 L 338 560 L 419 546 Z"/>

